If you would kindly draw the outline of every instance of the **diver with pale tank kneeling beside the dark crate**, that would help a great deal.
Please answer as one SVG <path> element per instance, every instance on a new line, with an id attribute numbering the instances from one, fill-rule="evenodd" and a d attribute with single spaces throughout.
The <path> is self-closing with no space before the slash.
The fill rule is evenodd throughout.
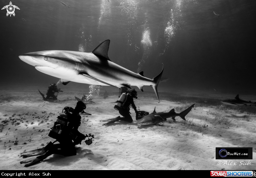
<path id="1" fill-rule="evenodd" d="M 136 98 L 136 99 L 138 98 L 137 95 L 138 94 L 137 94 L 137 91 L 135 91 L 135 89 L 131 91 L 128 90 L 125 93 L 123 93 L 114 107 L 116 110 L 119 111 L 119 114 L 122 115 L 123 117 L 118 116 L 113 119 L 102 120 L 102 122 L 107 122 L 106 124 L 103 124 L 103 125 L 115 123 L 116 121 L 120 121 L 120 120 L 132 123 L 133 119 L 132 119 L 132 116 L 130 115 L 130 106 L 134 109 L 135 113 L 137 113 L 136 106 L 133 102 L 133 98 Z"/>

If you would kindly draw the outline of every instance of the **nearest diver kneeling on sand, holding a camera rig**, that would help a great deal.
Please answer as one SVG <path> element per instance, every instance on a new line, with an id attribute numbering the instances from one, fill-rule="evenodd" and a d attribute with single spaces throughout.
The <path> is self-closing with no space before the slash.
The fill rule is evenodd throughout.
<path id="1" fill-rule="evenodd" d="M 42 149 L 32 150 L 29 152 L 21 153 L 23 157 L 37 156 L 36 158 L 27 159 L 21 161 L 20 163 L 28 163 L 25 167 L 31 166 L 35 163 L 38 163 L 52 154 L 59 154 L 63 156 L 73 156 L 76 155 L 75 145 L 81 144 L 82 140 L 88 137 L 88 140 L 85 141 L 87 145 L 91 145 L 92 138 L 94 135 L 89 134 L 84 135 L 78 131 L 78 128 L 81 124 L 81 116 L 79 113 L 85 113 L 86 115 L 91 115 L 84 112 L 86 105 L 82 101 L 78 101 L 76 108 L 65 107 L 59 116 L 52 130 L 49 133 L 49 136 L 56 139 L 55 142 L 59 144 L 53 144 L 55 142 L 50 142 Z M 62 110 L 62 111 L 63 111 Z M 89 138 L 91 137 L 91 138 Z"/>

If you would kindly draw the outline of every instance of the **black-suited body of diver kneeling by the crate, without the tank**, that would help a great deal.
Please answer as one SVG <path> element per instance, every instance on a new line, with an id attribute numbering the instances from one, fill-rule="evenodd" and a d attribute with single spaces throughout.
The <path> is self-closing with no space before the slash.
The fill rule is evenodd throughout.
<path id="1" fill-rule="evenodd" d="M 129 94 L 127 94 L 127 99 L 124 102 L 124 104 L 122 105 L 122 107 L 119 109 L 119 114 L 122 115 L 123 117 L 116 117 L 111 119 L 109 122 L 107 122 L 106 124 L 103 125 L 108 125 L 111 123 L 114 123 L 116 121 L 126 121 L 129 123 L 133 122 L 132 116 L 130 115 L 130 106 L 132 106 L 132 108 L 134 109 L 135 112 L 137 112 L 136 106 L 133 102 L 133 98 L 138 98 L 137 97 L 137 91 L 135 91 L 134 89 L 132 91 L 130 91 Z"/>

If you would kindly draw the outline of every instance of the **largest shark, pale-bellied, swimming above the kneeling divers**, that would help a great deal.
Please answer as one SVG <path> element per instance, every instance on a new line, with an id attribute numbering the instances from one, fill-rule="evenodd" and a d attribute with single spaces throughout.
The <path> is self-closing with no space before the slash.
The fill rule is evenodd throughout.
<path id="1" fill-rule="evenodd" d="M 19 57 L 40 72 L 60 78 L 64 85 L 73 81 L 117 88 L 137 86 L 141 91 L 146 85 L 154 89 L 159 101 L 157 86 L 164 68 L 153 79 L 144 77 L 143 72 L 136 74 L 108 58 L 109 43 L 109 39 L 102 42 L 91 53 L 52 50 L 26 53 Z"/>

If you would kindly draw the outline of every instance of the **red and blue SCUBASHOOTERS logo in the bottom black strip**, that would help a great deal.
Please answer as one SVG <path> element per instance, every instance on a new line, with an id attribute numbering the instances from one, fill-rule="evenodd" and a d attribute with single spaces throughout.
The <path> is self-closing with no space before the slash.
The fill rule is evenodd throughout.
<path id="1" fill-rule="evenodd" d="M 255 177 L 255 171 L 211 171 L 211 177 Z"/>

